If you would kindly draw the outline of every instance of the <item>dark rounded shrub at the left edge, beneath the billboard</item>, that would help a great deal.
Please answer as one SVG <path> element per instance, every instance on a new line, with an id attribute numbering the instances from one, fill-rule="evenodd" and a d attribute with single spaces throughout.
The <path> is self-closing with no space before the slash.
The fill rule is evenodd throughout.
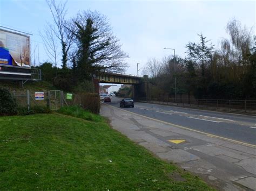
<path id="1" fill-rule="evenodd" d="M 8 89 L 0 88 L 0 116 L 16 115 L 17 103 Z"/>

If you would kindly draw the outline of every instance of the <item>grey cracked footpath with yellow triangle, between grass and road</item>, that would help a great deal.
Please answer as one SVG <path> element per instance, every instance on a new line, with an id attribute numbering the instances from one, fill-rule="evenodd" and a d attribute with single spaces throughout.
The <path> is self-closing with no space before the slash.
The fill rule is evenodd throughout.
<path id="1" fill-rule="evenodd" d="M 132 111 L 132 110 L 131 110 Z M 101 105 L 112 128 L 218 190 L 256 190 L 256 148 Z"/>

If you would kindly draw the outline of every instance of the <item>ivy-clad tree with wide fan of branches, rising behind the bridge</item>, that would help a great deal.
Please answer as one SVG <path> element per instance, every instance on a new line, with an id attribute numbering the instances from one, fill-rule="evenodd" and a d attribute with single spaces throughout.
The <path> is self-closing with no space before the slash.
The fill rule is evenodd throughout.
<path id="1" fill-rule="evenodd" d="M 79 77 L 89 78 L 97 72 L 123 72 L 127 54 L 121 50 L 107 22 L 98 12 L 84 11 L 73 19 Z"/>

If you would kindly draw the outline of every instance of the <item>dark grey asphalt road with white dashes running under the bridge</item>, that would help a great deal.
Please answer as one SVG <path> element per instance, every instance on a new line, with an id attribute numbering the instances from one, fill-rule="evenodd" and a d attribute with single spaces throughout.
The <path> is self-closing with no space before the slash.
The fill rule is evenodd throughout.
<path id="1" fill-rule="evenodd" d="M 120 98 L 111 97 L 111 102 L 106 104 L 119 107 L 120 100 Z M 215 136 L 256 145 L 255 116 L 140 102 L 134 103 L 134 108 L 122 109 Z"/>

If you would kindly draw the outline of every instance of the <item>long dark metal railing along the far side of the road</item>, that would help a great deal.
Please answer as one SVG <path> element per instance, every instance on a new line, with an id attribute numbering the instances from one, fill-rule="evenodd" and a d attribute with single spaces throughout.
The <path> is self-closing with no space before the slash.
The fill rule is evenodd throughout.
<path id="1" fill-rule="evenodd" d="M 242 112 L 255 112 L 256 113 L 256 100 L 210 100 L 210 99 L 183 99 L 178 98 L 174 100 L 173 97 L 165 98 L 140 98 L 139 101 L 177 105 L 183 107 L 193 108 L 210 108 L 217 110 L 229 111 L 242 111 Z"/>

